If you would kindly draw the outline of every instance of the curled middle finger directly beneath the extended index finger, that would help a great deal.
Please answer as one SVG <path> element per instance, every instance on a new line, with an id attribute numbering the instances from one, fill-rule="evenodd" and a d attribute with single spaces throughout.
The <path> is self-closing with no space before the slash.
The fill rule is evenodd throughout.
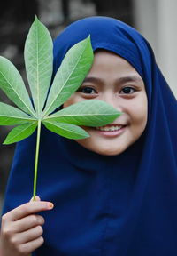
<path id="1" fill-rule="evenodd" d="M 44 219 L 41 215 L 31 214 L 20 220 L 12 221 L 11 229 L 13 233 L 21 233 L 30 228 L 41 226 L 44 224 Z"/>

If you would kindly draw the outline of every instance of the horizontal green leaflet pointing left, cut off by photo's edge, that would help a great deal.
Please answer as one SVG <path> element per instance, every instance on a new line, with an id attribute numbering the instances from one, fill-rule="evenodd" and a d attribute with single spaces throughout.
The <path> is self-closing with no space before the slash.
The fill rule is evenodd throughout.
<path id="1" fill-rule="evenodd" d="M 18 108 L 0 102 L 0 125 L 15 125 L 34 121 L 34 118 Z"/>

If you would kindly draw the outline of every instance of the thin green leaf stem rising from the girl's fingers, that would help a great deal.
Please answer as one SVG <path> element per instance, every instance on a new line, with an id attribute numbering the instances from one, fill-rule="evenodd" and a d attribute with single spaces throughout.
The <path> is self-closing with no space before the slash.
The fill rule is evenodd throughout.
<path id="1" fill-rule="evenodd" d="M 38 120 L 37 140 L 36 140 L 36 148 L 35 148 L 35 174 L 34 174 L 34 192 L 33 192 L 33 200 L 34 201 L 35 201 L 35 196 L 36 196 L 36 183 L 37 183 L 37 168 L 38 168 L 38 159 L 39 159 L 40 135 L 41 135 L 41 120 Z"/>

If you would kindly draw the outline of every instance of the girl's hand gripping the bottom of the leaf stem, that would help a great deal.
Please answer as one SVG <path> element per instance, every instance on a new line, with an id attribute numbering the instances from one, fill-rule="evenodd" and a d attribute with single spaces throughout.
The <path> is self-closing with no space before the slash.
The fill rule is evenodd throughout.
<path id="1" fill-rule="evenodd" d="M 0 256 L 28 256 L 43 244 L 44 219 L 35 213 L 50 210 L 53 204 L 35 199 L 3 215 Z"/>

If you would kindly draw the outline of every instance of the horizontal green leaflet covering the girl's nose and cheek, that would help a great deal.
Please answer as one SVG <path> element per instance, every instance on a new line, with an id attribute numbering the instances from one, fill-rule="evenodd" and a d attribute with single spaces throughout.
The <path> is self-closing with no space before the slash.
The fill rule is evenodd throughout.
<path id="1" fill-rule="evenodd" d="M 82 100 L 47 116 L 45 120 L 96 127 L 110 124 L 120 115 L 119 111 L 103 100 Z"/>

